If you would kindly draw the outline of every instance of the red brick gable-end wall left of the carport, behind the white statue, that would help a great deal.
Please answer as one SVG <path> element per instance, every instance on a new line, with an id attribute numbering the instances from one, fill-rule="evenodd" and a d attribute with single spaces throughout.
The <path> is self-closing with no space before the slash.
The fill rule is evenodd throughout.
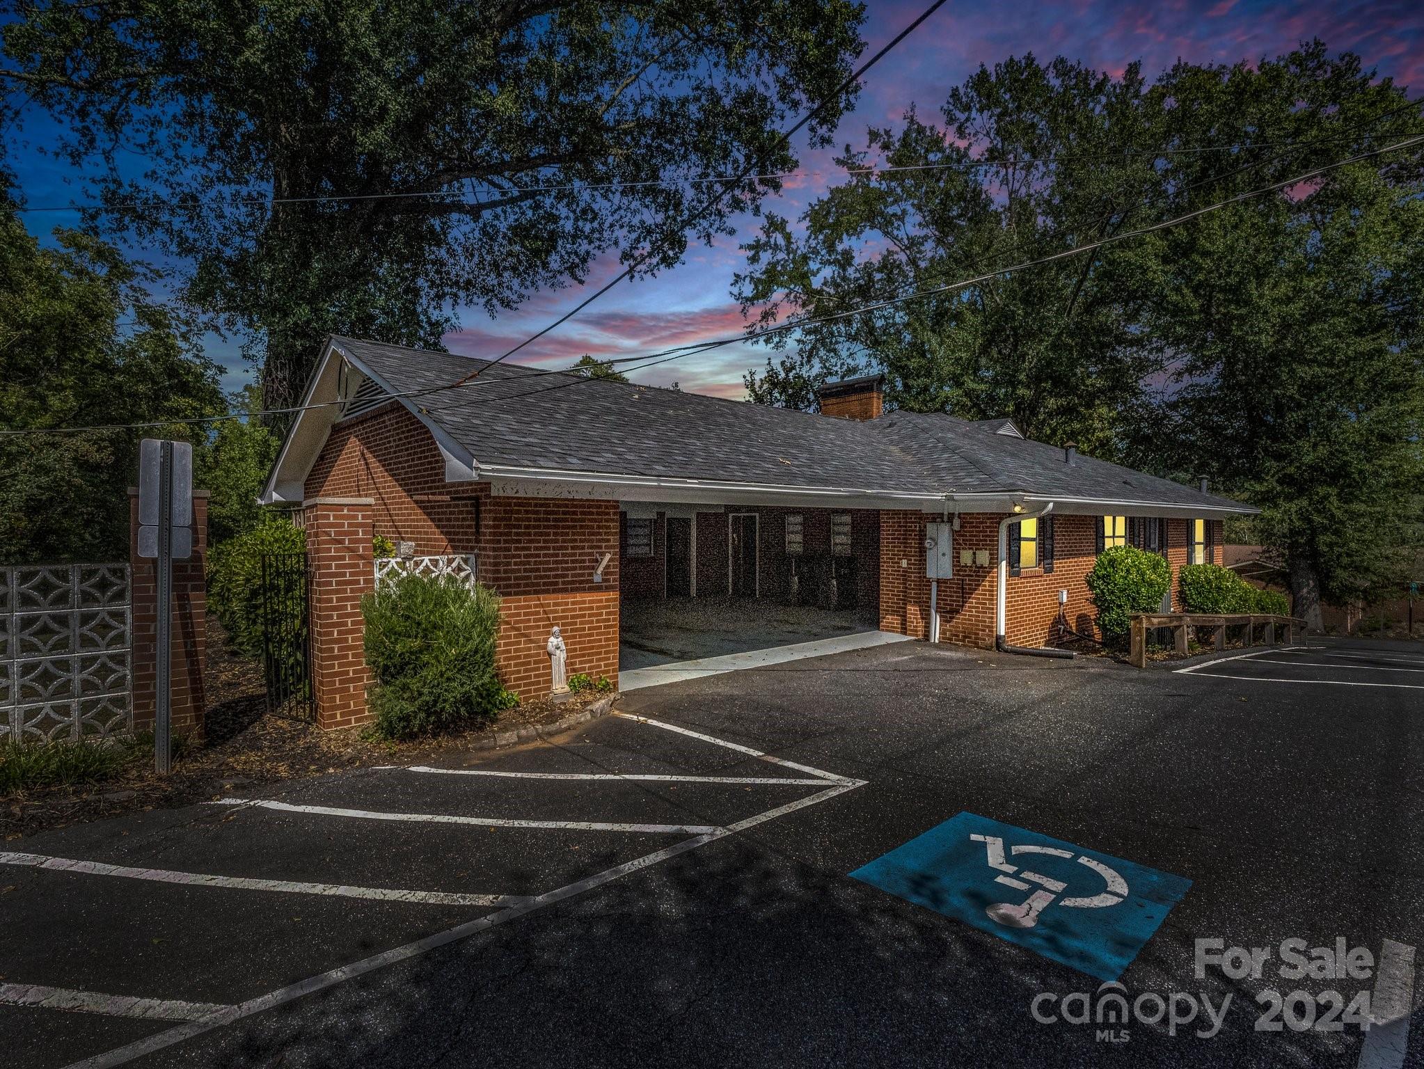
<path id="1" fill-rule="evenodd" d="M 478 551 L 480 582 L 503 599 L 498 663 L 511 690 L 548 693 L 544 643 L 555 623 L 570 675 L 605 675 L 617 683 L 615 501 L 493 497 L 487 484 L 446 483 L 434 438 L 399 404 L 333 427 L 308 475 L 306 497 L 372 498 L 372 531 L 414 542 L 420 555 Z M 612 558 L 602 584 L 594 584 L 604 552 Z"/>

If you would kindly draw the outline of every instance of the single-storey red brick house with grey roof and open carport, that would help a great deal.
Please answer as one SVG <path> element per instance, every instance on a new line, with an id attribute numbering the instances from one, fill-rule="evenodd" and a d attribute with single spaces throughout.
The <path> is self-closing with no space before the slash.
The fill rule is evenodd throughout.
<path id="1" fill-rule="evenodd" d="M 881 386 L 832 384 L 812 414 L 333 337 L 262 500 L 342 512 L 357 555 L 367 531 L 471 555 L 503 598 L 500 666 L 523 693 L 548 685 L 554 625 L 570 672 L 617 680 L 621 612 L 639 599 L 796 602 L 914 638 L 1044 646 L 1061 599 L 1094 629 L 1084 576 L 1105 545 L 1176 569 L 1213 559 L 1222 517 L 1255 511 L 1008 420 L 884 413 Z M 355 591 L 362 567 L 343 558 Z M 350 623 L 349 606 L 332 615 Z"/>

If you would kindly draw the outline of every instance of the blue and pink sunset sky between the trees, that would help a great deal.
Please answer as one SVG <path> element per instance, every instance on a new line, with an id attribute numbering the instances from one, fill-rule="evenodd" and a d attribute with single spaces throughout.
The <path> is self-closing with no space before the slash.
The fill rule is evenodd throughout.
<path id="1" fill-rule="evenodd" d="M 869 4 L 864 37 L 871 54 L 926 6 L 926 0 Z M 1233 63 L 1289 51 L 1302 40 L 1320 37 L 1331 51 L 1354 51 L 1366 65 L 1418 95 L 1424 90 L 1424 9 L 1417 0 L 1381 3 L 1259 3 L 1213 0 L 1213 3 L 1142 4 L 1129 0 L 1088 3 L 950 3 L 941 7 L 909 40 L 871 68 L 857 107 L 840 124 L 837 141 L 862 147 L 866 127 L 896 122 L 910 104 L 927 117 L 937 112 L 951 85 L 961 83 L 981 63 L 994 64 L 1008 56 L 1034 53 L 1041 60 L 1054 56 L 1081 60 L 1109 73 L 1142 60 L 1151 78 L 1176 58 Z M 21 189 L 31 204 L 66 202 L 74 186 L 60 184 L 53 164 L 23 157 L 14 161 Z M 787 182 L 783 195 L 765 208 L 795 218 L 830 182 L 829 152 L 802 152 L 802 164 L 817 174 Z M 30 218 L 37 231 L 71 219 Z M 581 353 L 601 357 L 635 356 L 642 352 L 738 333 L 742 316 L 731 299 L 732 275 L 742 263 L 740 242 L 755 235 L 755 219 L 743 219 L 735 238 L 715 246 L 689 248 L 682 265 L 664 275 L 622 283 L 588 310 L 525 349 L 520 363 L 554 366 L 575 360 Z M 614 256 L 595 263 L 585 283 L 597 289 L 615 273 Z M 568 288 L 533 296 L 513 313 L 491 320 L 483 309 L 460 313 L 463 327 L 446 336 L 451 352 L 497 356 L 545 326 L 588 290 Z M 226 369 L 225 386 L 249 380 L 238 353 L 239 339 L 211 339 L 209 354 Z M 725 397 L 743 394 L 742 374 L 762 366 L 766 350 L 738 344 L 693 356 L 635 374 L 652 384 L 681 381 L 684 390 Z"/>

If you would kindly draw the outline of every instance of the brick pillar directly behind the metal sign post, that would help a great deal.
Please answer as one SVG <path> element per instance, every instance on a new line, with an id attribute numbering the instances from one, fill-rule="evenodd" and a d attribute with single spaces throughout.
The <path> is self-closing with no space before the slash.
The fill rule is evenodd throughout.
<path id="1" fill-rule="evenodd" d="M 174 734 L 202 734 L 202 665 L 208 653 L 208 491 L 192 494 L 192 557 L 174 561 L 169 707 Z M 134 727 L 154 726 L 158 707 L 158 562 L 138 555 L 138 490 L 128 490 L 130 631 Z"/>

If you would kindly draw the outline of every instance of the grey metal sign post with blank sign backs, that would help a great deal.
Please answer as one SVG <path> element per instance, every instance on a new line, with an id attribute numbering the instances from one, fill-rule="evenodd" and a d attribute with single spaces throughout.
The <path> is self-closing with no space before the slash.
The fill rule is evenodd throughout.
<path id="1" fill-rule="evenodd" d="M 172 767 L 172 562 L 192 557 L 192 446 L 144 438 L 138 448 L 138 555 L 158 571 L 154 769 Z"/>

